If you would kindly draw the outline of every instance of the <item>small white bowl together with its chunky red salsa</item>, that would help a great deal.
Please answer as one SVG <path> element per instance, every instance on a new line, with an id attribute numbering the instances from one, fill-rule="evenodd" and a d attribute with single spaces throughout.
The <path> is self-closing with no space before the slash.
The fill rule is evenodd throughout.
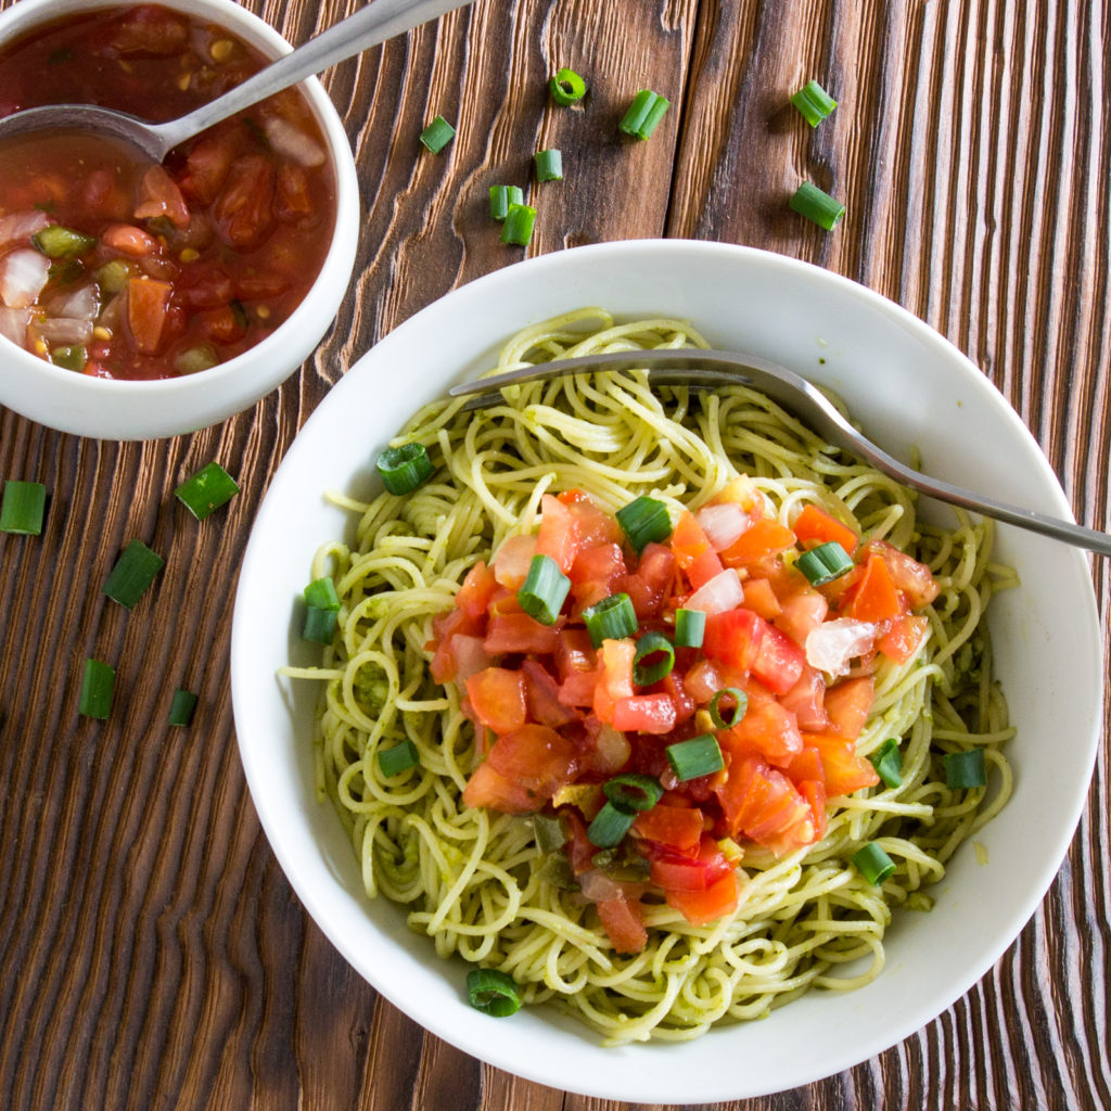
<path id="1" fill-rule="evenodd" d="M 172 119 L 283 49 L 223 0 L 24 0 L 0 16 L 0 112 L 71 101 Z M 0 157 L 0 401 L 43 423 L 144 439 L 220 420 L 300 364 L 346 290 L 358 189 L 314 80 L 163 164 L 64 132 Z"/>

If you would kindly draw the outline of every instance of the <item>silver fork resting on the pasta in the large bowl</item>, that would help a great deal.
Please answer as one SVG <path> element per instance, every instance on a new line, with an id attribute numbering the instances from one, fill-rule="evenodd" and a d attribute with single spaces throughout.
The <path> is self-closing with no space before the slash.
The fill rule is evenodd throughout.
<path id="1" fill-rule="evenodd" d="M 1054 540 L 1063 540 L 1077 548 L 1085 548 L 1101 556 L 1111 556 L 1111 534 L 1035 513 L 1030 509 L 1010 506 L 985 494 L 973 493 L 971 490 L 943 482 L 941 479 L 932 479 L 900 463 L 893 456 L 889 456 L 882 448 L 878 448 L 858 432 L 812 383 L 785 367 L 754 356 L 740 354 L 735 351 L 707 351 L 699 348 L 614 351 L 582 356 L 578 359 L 560 359 L 540 363 L 538 367 L 522 367 L 520 370 L 510 370 L 503 374 L 492 374 L 489 378 L 453 386 L 448 393 L 451 397 L 479 394 L 468 402 L 467 408 L 481 409 L 497 404 L 501 400 L 498 391 L 506 386 L 539 382 L 565 374 L 585 374 L 599 370 L 638 369 L 647 369 L 652 380 L 660 384 L 751 387 L 793 413 L 830 443 L 853 452 L 877 470 L 919 493 L 983 513 L 1008 524 L 1017 524 L 1020 529 L 1039 532 Z"/>

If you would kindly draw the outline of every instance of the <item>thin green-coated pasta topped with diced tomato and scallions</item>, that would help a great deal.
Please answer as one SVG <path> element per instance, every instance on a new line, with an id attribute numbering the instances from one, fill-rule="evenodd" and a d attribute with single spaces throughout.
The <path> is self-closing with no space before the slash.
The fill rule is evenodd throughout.
<path id="1" fill-rule="evenodd" d="M 598 309 L 497 371 L 705 347 Z M 320 549 L 318 788 L 370 897 L 609 1043 L 690 1039 L 883 967 L 895 908 L 1010 791 L 991 526 L 742 387 L 642 371 L 438 401 L 431 476 Z M 337 496 L 338 497 L 338 496 Z"/>

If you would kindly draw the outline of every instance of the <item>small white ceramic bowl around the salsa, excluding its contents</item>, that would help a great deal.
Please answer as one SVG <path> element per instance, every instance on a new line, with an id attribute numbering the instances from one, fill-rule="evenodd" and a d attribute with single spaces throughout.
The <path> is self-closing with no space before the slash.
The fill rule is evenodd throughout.
<path id="1" fill-rule="evenodd" d="M 292 48 L 232 0 L 159 0 L 227 27 L 263 54 Z M 0 12 L 0 43 L 70 12 L 111 7 L 106 0 L 20 0 Z M 302 86 L 336 173 L 332 243 L 312 288 L 261 343 L 211 370 L 154 382 L 90 378 L 54 367 L 0 337 L 0 404 L 32 420 L 103 440 L 150 440 L 206 428 L 254 404 L 309 357 L 347 292 L 359 240 L 359 182 L 340 118 L 316 78 Z"/>

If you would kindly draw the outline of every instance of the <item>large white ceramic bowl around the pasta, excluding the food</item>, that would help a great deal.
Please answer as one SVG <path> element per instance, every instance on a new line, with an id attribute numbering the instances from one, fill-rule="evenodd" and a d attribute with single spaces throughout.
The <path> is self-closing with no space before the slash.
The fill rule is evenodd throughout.
<path id="1" fill-rule="evenodd" d="M 761 1022 L 694 1042 L 602 1049 L 551 1009 L 471 1010 L 461 963 L 439 960 L 399 908 L 368 901 L 331 805 L 313 797 L 314 683 L 278 678 L 319 651 L 293 623 L 317 546 L 349 534 L 327 488 L 367 496 L 373 461 L 411 412 L 488 369 L 529 323 L 589 304 L 623 318 L 689 318 L 710 341 L 827 383 L 884 447 L 922 450 L 941 478 L 1061 517 L 1044 457 L 999 392 L 902 309 L 843 278 L 740 247 L 638 241 L 564 251 L 481 278 L 383 339 L 312 414 L 278 470 L 243 560 L 232 695 L 254 804 L 309 913 L 382 994 L 474 1057 L 554 1088 L 651 1103 L 741 1099 L 847 1069 L 911 1034 L 975 983 L 1044 895 L 1080 817 L 1099 738 L 1103 667 L 1085 557 L 1009 527 L 998 557 L 1022 577 L 992 603 L 998 675 L 1019 734 L 1013 799 L 934 890 L 928 914 L 895 914 L 888 964 L 848 994 L 812 991 Z M 403 373 L 399 369 L 403 368 Z M 939 514 L 949 511 L 939 509 Z M 289 600 L 289 604 L 283 602 Z"/>

